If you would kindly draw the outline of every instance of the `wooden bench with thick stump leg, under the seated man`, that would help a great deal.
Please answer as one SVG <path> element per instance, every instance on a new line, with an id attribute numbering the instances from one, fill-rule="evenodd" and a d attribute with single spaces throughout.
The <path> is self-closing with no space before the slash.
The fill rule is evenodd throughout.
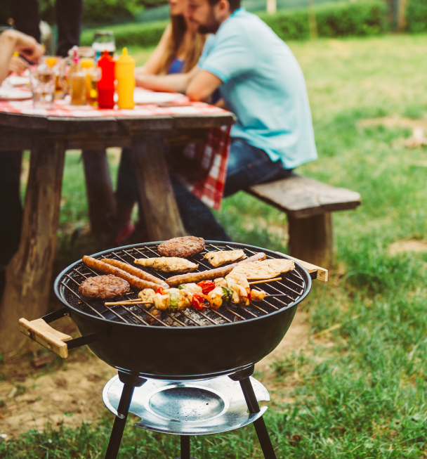
<path id="1" fill-rule="evenodd" d="M 334 259 L 332 212 L 360 205 L 356 191 L 296 174 L 251 186 L 247 192 L 286 212 L 292 257 L 325 267 L 330 267 Z"/>

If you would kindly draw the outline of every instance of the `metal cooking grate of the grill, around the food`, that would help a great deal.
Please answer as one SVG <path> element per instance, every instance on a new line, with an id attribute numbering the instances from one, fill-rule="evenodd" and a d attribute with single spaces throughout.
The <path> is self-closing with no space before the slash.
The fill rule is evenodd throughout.
<path id="1" fill-rule="evenodd" d="M 212 250 L 244 250 L 247 257 L 258 253 L 254 251 L 254 247 L 249 249 L 241 244 L 233 243 L 206 243 L 206 250 L 189 258 L 190 261 L 199 264 L 197 271 L 206 271 L 213 269 L 206 260 L 203 259 L 206 252 Z M 263 250 L 268 259 L 281 258 L 279 254 Z M 157 252 L 157 243 L 136 245 L 136 247 L 123 247 L 111 250 L 110 252 L 103 252 L 96 256 L 97 259 L 112 258 L 126 263 L 133 264 L 136 258 L 150 258 L 159 257 Z M 173 276 L 165 273 L 160 273 L 153 269 L 148 269 L 145 266 L 133 264 L 140 269 L 152 273 L 158 278 L 166 279 Z M 224 266 L 224 265 L 223 265 Z M 60 295 L 67 304 L 77 311 L 91 314 L 103 318 L 107 321 L 119 321 L 121 323 L 129 323 L 132 325 L 147 325 L 147 326 L 164 326 L 164 327 L 196 327 L 206 325 L 219 325 L 222 323 L 233 323 L 238 321 L 247 321 L 250 319 L 265 316 L 265 314 L 286 309 L 291 304 L 296 302 L 306 290 L 306 282 L 301 276 L 299 266 L 296 266 L 294 271 L 282 274 L 282 280 L 276 280 L 271 283 L 263 283 L 254 285 L 255 288 L 265 290 L 268 295 L 282 295 L 281 297 L 268 297 L 263 299 L 262 302 L 251 303 L 249 306 L 221 306 L 218 310 L 207 309 L 206 311 L 195 311 L 194 309 L 186 309 L 185 311 L 163 311 L 162 318 L 156 318 L 150 311 L 145 309 L 142 304 L 122 304 L 117 306 L 105 306 L 105 302 L 100 299 L 84 299 L 79 295 L 79 285 L 87 278 L 98 276 L 102 273 L 97 273 L 88 268 L 83 263 L 75 264 L 60 280 Z M 286 295 L 286 296 L 283 296 Z M 124 299 L 138 298 L 138 291 L 131 289 L 121 301 Z M 111 302 L 112 300 L 106 300 Z M 150 323 L 151 322 L 151 323 Z"/>

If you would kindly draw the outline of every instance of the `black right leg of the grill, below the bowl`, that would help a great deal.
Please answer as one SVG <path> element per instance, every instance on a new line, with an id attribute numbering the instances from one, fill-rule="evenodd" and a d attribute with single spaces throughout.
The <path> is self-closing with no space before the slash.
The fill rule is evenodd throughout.
<path id="1" fill-rule="evenodd" d="M 230 378 L 233 381 L 239 381 L 240 387 L 242 387 L 242 392 L 244 399 L 246 400 L 247 406 L 249 408 L 249 413 L 259 413 L 258 400 L 256 400 L 254 387 L 252 387 L 251 380 L 249 376 L 254 373 L 254 367 L 247 368 L 247 370 L 242 370 L 239 373 L 230 375 Z M 259 418 L 254 421 L 254 427 L 256 435 L 258 437 L 259 444 L 263 450 L 265 459 L 277 459 L 275 450 L 272 447 L 270 435 L 268 435 L 267 427 L 263 418 Z"/>

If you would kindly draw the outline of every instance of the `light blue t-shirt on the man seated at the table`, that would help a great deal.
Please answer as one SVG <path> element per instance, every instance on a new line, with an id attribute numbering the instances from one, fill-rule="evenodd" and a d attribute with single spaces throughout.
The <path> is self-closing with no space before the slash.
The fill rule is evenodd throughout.
<path id="1" fill-rule="evenodd" d="M 199 68 L 223 82 L 237 116 L 232 137 L 261 148 L 286 169 L 315 160 L 317 151 L 303 72 L 291 50 L 244 8 L 206 40 Z"/>

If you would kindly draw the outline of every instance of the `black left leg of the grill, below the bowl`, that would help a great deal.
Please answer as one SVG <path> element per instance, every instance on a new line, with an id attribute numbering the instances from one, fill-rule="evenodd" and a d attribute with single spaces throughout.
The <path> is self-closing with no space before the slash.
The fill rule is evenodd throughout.
<path id="1" fill-rule="evenodd" d="M 128 418 L 129 406 L 131 406 L 133 390 L 135 387 L 142 386 L 146 381 L 142 377 L 129 377 L 129 375 L 124 375 L 124 373 L 119 373 L 119 378 L 121 382 L 124 382 L 124 387 L 123 392 L 121 392 L 119 407 L 117 408 L 118 415 L 114 419 L 114 425 L 112 426 L 105 459 L 117 459 L 121 437 L 123 437 L 124 426 Z"/>

